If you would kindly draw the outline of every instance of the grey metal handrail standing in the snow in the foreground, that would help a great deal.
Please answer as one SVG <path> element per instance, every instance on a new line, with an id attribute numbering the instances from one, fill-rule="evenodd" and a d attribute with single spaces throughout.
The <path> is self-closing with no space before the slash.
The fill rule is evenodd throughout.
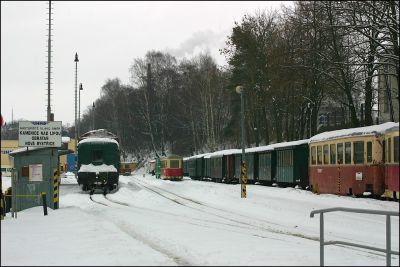
<path id="1" fill-rule="evenodd" d="M 377 247 L 370 247 L 370 246 L 365 246 L 365 245 L 360 245 L 356 243 L 350 243 L 350 242 L 343 242 L 343 241 L 324 241 L 324 213 L 327 212 L 333 212 L 333 211 L 344 211 L 344 212 L 353 212 L 353 213 L 366 213 L 366 214 L 375 214 L 375 215 L 385 215 L 386 216 L 386 249 L 382 248 L 377 248 Z M 386 266 L 391 266 L 391 261 L 390 261 L 390 255 L 399 255 L 398 251 L 393 251 L 391 248 L 391 237 L 390 237 L 390 216 L 399 216 L 399 212 L 395 211 L 382 211 L 382 210 L 365 210 L 365 209 L 352 209 L 352 208 L 342 208 L 342 207 L 336 207 L 336 208 L 329 208 L 329 209 L 320 209 L 320 210 L 313 210 L 310 213 L 310 217 L 313 218 L 314 214 L 320 213 L 320 221 L 319 221 L 319 247 L 320 247 L 320 266 L 324 266 L 324 246 L 325 245 L 335 245 L 335 244 L 341 244 L 341 245 L 347 245 L 347 246 L 353 246 L 353 247 L 359 247 L 359 248 L 364 248 L 364 249 L 370 249 L 370 250 L 375 250 L 379 252 L 384 252 L 386 253 Z"/>

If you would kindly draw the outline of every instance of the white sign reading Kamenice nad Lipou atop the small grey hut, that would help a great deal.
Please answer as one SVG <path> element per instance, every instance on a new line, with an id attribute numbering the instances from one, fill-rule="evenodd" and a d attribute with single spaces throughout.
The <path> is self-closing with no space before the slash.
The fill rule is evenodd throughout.
<path id="1" fill-rule="evenodd" d="M 20 121 L 18 126 L 18 146 L 61 146 L 61 121 Z"/>

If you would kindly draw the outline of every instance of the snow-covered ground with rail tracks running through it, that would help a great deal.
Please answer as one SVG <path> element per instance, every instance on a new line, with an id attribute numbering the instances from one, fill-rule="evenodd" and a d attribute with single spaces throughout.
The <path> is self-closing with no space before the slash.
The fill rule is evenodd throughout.
<path id="1" fill-rule="evenodd" d="M 7 178 L 3 177 L 4 183 Z M 142 170 L 120 176 L 106 197 L 61 176 L 60 209 L 10 214 L 1 222 L 1 265 L 319 265 L 319 215 L 331 207 L 399 212 L 399 203 L 293 188 L 155 179 Z M 325 240 L 385 248 L 385 217 L 327 213 Z M 399 217 L 391 217 L 399 251 Z M 399 266 L 399 257 L 392 256 Z M 385 254 L 325 247 L 326 265 L 385 265 Z"/>

